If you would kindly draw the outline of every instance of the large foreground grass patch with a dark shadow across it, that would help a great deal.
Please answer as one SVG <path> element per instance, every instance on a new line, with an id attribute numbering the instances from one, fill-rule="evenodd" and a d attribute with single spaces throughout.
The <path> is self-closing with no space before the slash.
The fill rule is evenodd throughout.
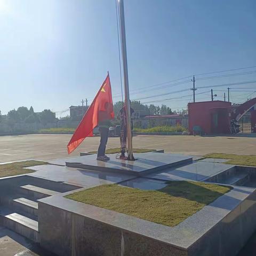
<path id="1" fill-rule="evenodd" d="M 159 190 L 111 184 L 85 189 L 66 197 L 173 227 L 230 189 L 211 183 L 170 181 Z"/>

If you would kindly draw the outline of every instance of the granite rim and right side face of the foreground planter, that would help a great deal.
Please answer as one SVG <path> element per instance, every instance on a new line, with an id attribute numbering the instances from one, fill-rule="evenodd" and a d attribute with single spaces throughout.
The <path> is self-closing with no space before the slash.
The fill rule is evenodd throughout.
<path id="1" fill-rule="evenodd" d="M 69 214 L 78 214 L 81 218 L 84 217 L 101 223 L 99 225 L 110 225 L 138 236 L 154 239 L 163 244 L 191 252 L 189 255 L 227 255 L 226 250 L 231 250 L 230 248 L 233 248 L 234 253 L 237 253 L 237 250 L 242 248 L 241 246 L 246 243 L 247 238 L 256 229 L 254 218 L 256 193 L 253 188 L 234 186 L 233 190 L 220 196 L 213 203 L 205 206 L 175 227 L 159 225 L 62 197 L 67 194 L 70 193 L 40 199 L 39 208 L 40 205 L 43 207 L 43 204 L 57 207 L 60 212 L 67 211 Z M 44 215 L 43 219 L 47 218 L 47 212 L 44 211 L 42 214 Z M 237 221 L 243 223 L 242 233 L 241 226 L 235 225 Z M 100 236 L 100 234 L 98 235 Z M 215 241 L 216 237 L 218 239 Z M 94 238 L 97 239 L 97 237 Z M 214 253 L 209 253 L 207 248 L 210 248 Z M 198 250 L 201 254 L 198 254 Z M 235 255 L 234 253 L 228 255 Z"/>

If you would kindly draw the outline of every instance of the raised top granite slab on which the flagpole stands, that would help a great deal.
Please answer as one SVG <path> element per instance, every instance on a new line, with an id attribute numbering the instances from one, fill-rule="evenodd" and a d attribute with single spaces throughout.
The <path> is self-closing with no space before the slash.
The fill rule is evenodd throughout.
<path id="1" fill-rule="evenodd" d="M 95 155 L 87 155 L 65 159 L 55 162 L 55 164 L 63 164 L 63 161 L 65 161 L 66 166 L 68 167 L 142 176 L 151 172 L 163 170 L 167 167 L 185 165 L 193 161 L 192 157 L 190 156 L 152 152 L 134 154 L 134 157 L 137 158 L 136 161 L 116 159 L 115 154 L 110 154 L 108 156 L 110 157 L 110 160 L 106 162 L 97 161 Z"/>

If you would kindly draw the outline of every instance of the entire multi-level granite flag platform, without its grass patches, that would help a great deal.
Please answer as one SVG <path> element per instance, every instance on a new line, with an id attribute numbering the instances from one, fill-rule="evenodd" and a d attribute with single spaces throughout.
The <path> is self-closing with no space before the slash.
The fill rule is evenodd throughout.
<path id="1" fill-rule="evenodd" d="M 175 227 L 65 198 L 110 183 L 156 190 L 170 180 L 216 182 L 222 174 L 239 171 L 235 165 L 212 158 L 193 162 L 193 156 L 178 154 L 134 154 L 137 161 L 108 156 L 107 162 L 97 161 L 95 155 L 56 159 L 28 167 L 33 173 L 0 179 L 2 183 L 10 180 L 5 182 L 6 188 L 16 179 L 19 186 L 34 182 L 35 186 L 60 192 L 37 201 L 38 231 L 44 249 L 59 256 L 235 256 L 256 230 L 255 188 L 233 185 L 227 194 Z M 243 171 L 256 174 L 252 167 Z"/>

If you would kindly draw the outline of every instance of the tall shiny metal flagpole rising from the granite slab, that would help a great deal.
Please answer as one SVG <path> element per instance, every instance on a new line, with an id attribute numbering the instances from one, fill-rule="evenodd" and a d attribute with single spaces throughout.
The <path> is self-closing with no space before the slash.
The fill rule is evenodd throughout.
<path id="1" fill-rule="evenodd" d="M 128 81 L 128 68 L 127 68 L 127 54 L 126 54 L 126 38 L 125 38 L 125 22 L 124 22 L 124 2 L 119 2 L 119 15 L 120 15 L 120 28 L 121 28 L 121 46 L 123 57 L 123 70 L 124 70 L 124 93 L 125 93 L 125 108 L 126 108 L 126 124 L 127 124 L 127 146 L 128 146 L 128 160 L 134 160 L 132 154 L 132 127 L 131 127 L 131 104 L 129 95 L 129 81 Z"/>

